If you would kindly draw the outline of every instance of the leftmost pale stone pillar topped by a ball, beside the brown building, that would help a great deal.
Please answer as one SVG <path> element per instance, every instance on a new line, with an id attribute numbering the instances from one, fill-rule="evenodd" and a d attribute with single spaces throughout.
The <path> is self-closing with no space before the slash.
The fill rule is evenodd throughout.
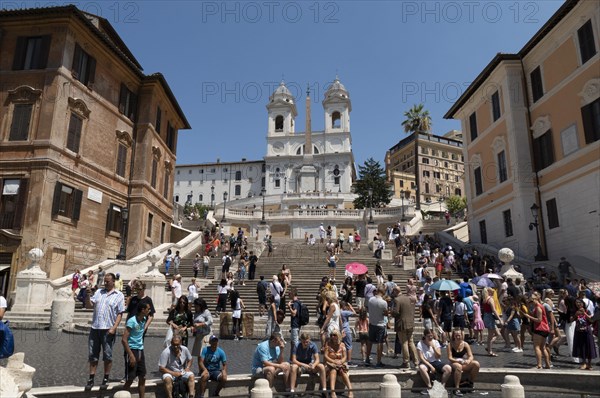
<path id="1" fill-rule="evenodd" d="M 27 253 L 31 264 L 19 272 L 16 278 L 14 312 L 36 312 L 48 308 L 48 293 L 52 289 L 46 273 L 40 268 L 44 257 L 42 249 L 33 248 Z"/>

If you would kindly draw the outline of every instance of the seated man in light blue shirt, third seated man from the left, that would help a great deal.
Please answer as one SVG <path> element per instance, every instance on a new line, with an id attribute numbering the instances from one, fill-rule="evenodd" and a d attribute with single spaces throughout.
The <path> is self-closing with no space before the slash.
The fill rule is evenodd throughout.
<path id="1" fill-rule="evenodd" d="M 273 378 L 279 372 L 283 373 L 284 383 L 288 386 L 290 364 L 283 361 L 285 343 L 281 334 L 273 333 L 269 340 L 258 344 L 252 357 L 252 375 L 263 375 L 273 387 Z"/>

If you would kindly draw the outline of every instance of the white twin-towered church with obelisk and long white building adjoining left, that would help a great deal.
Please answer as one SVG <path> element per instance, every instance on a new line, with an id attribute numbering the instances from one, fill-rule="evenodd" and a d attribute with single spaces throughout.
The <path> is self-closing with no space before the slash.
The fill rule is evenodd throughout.
<path id="1" fill-rule="evenodd" d="M 325 92 L 324 129 L 312 131 L 311 98 L 305 100 L 306 131 L 297 132 L 296 99 L 282 82 L 267 104 L 267 148 L 262 160 L 183 164 L 175 167 L 174 202 L 216 208 L 272 210 L 351 208 L 356 179 L 350 134 L 350 95 L 336 77 Z M 279 206 L 276 206 L 276 205 Z"/>

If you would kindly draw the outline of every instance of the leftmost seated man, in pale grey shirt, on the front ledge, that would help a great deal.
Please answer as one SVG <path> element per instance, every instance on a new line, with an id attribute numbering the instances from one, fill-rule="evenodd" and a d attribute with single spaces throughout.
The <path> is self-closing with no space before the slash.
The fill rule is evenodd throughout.
<path id="1" fill-rule="evenodd" d="M 158 360 L 158 370 L 162 373 L 165 382 L 167 397 L 173 395 L 173 380 L 181 377 L 187 381 L 189 396 L 193 397 L 194 373 L 192 373 L 192 354 L 188 348 L 181 345 L 181 336 L 175 334 L 171 339 L 171 345 L 163 350 Z"/>

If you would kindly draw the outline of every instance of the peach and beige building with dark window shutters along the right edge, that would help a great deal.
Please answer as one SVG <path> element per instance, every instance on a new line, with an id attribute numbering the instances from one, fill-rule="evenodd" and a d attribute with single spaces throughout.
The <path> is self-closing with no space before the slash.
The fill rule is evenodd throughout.
<path id="1" fill-rule="evenodd" d="M 445 115 L 465 132 L 470 238 L 600 264 L 600 3 L 566 1 Z"/>

